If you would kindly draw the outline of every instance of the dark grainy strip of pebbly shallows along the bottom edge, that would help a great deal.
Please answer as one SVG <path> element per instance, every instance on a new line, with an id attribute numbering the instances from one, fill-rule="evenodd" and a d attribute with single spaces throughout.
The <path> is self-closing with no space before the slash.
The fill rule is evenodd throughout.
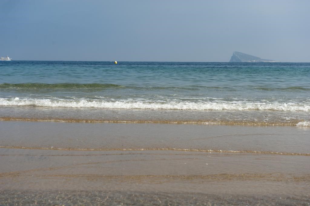
<path id="1" fill-rule="evenodd" d="M 7 205 L 305 205 L 308 197 L 138 191 L 0 191 Z"/>

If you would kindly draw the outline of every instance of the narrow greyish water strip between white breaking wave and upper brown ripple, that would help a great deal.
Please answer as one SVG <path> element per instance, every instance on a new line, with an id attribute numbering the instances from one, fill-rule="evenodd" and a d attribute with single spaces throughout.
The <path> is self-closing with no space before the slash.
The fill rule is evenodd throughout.
<path id="1" fill-rule="evenodd" d="M 0 121 L 310 127 L 309 112 L 0 106 Z"/>

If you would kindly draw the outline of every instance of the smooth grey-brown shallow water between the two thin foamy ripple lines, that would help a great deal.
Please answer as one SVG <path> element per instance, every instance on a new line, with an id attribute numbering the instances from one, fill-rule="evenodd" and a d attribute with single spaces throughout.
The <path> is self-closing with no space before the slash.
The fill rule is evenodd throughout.
<path id="1" fill-rule="evenodd" d="M 308 127 L 1 121 L 2 147 L 310 155 Z"/>

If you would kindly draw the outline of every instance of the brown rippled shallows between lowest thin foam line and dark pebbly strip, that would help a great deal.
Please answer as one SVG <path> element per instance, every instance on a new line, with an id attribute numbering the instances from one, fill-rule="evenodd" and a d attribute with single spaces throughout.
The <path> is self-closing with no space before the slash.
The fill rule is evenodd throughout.
<path id="1" fill-rule="evenodd" d="M 197 151 L 0 148 L 3 190 L 309 195 L 308 156 Z M 196 195 L 199 197 L 200 195 Z M 309 196 L 308 196 L 309 198 Z M 143 199 L 143 198 L 142 198 Z M 294 201 L 293 201 L 294 202 Z"/>

